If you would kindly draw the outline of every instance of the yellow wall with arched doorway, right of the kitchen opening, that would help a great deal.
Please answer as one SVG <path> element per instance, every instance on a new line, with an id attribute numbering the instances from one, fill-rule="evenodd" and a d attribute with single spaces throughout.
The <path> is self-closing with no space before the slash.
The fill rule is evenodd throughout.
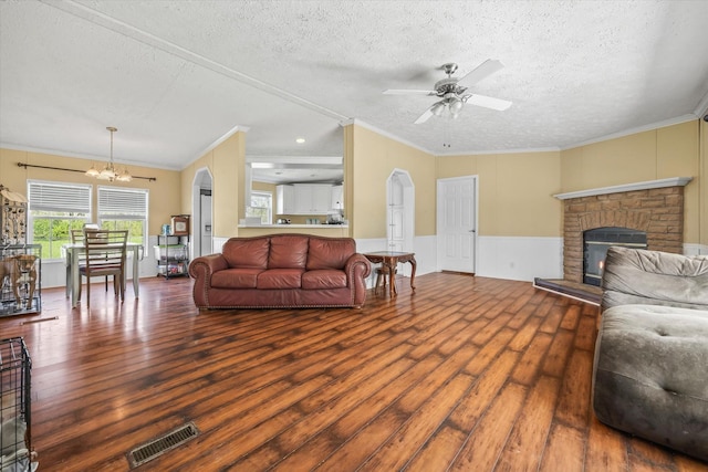
<path id="1" fill-rule="evenodd" d="M 406 170 L 415 186 L 415 235 L 435 234 L 435 157 L 358 125 L 345 128 L 344 201 L 352 235 L 386 238 L 386 180 L 394 169 Z"/>

